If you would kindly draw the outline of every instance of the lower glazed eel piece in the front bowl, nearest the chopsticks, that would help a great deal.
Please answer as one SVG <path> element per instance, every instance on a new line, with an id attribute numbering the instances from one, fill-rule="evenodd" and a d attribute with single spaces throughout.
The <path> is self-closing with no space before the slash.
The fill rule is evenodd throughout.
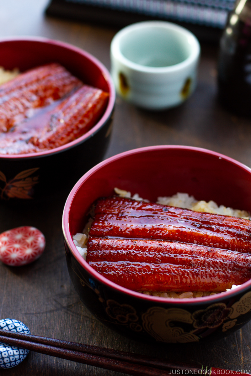
<path id="1" fill-rule="evenodd" d="M 135 291 L 225 291 L 251 278 L 251 255 L 196 244 L 93 238 L 87 262 Z"/>

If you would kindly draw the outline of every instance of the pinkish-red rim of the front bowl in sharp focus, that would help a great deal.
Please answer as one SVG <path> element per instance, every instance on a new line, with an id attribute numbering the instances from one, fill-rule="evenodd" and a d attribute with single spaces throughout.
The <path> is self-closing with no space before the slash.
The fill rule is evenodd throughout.
<path id="1" fill-rule="evenodd" d="M 120 285 L 115 284 L 114 282 L 111 282 L 109 279 L 105 278 L 102 276 L 102 274 L 98 273 L 96 270 L 94 270 L 88 263 L 85 261 L 85 259 L 80 255 L 78 250 L 76 249 L 75 244 L 73 243 L 73 239 L 71 238 L 70 234 L 70 227 L 69 227 L 69 213 L 71 209 L 71 204 L 73 202 L 73 198 L 75 197 L 75 194 L 78 192 L 79 187 L 87 180 L 92 174 L 96 173 L 97 170 L 100 170 L 103 166 L 110 164 L 110 162 L 119 160 L 124 158 L 125 156 L 133 155 L 133 154 L 138 154 L 138 153 L 143 153 L 151 150 L 163 150 L 163 149 L 178 149 L 178 150 L 192 150 L 192 151 L 197 151 L 197 152 L 202 152 L 206 153 L 211 156 L 218 157 L 219 159 L 224 159 L 225 161 L 231 162 L 234 165 L 239 166 L 243 170 L 248 171 L 251 174 L 251 168 L 248 166 L 242 164 L 241 162 L 236 161 L 233 158 L 230 158 L 228 156 L 225 156 L 224 154 L 214 152 L 212 150 L 200 148 L 200 147 L 194 147 L 194 146 L 182 146 L 182 145 L 157 145 L 157 146 L 146 146 L 146 147 L 141 147 L 137 149 L 132 149 L 128 150 L 123 153 L 116 154 L 108 159 L 105 159 L 105 161 L 100 162 L 93 168 L 91 168 L 87 173 L 85 173 L 79 180 L 78 182 L 74 185 L 72 188 L 70 194 L 67 197 L 67 200 L 65 202 L 64 206 L 64 211 L 62 215 L 62 231 L 64 235 L 65 242 L 67 243 L 68 249 L 72 253 L 73 257 L 76 259 L 76 261 L 79 262 L 79 264 L 84 268 L 85 270 L 88 271 L 88 273 L 91 274 L 95 279 L 97 279 L 99 282 L 102 284 L 108 286 L 109 288 L 112 288 L 114 290 L 119 291 L 120 293 L 127 294 L 131 297 L 134 298 L 139 298 L 143 300 L 149 300 L 151 302 L 155 303 L 167 303 L 167 304 L 175 304 L 175 305 L 199 305 L 202 303 L 205 303 L 208 301 L 208 303 L 216 303 L 220 302 L 225 299 L 230 299 L 233 298 L 234 296 L 238 295 L 241 291 L 246 290 L 247 288 L 251 287 L 251 279 L 249 279 L 247 282 L 244 284 L 240 285 L 239 287 L 234 288 L 233 290 L 230 291 L 224 291 L 224 296 L 222 296 L 222 293 L 220 294 L 215 294 L 211 296 L 204 296 L 204 297 L 198 297 L 196 299 L 191 299 L 191 298 L 183 298 L 183 299 L 178 299 L 178 298 L 164 298 L 164 297 L 157 297 L 157 296 L 151 296 L 151 295 L 146 295 L 142 293 L 138 293 L 133 290 L 129 290 L 125 287 L 122 287 Z"/>

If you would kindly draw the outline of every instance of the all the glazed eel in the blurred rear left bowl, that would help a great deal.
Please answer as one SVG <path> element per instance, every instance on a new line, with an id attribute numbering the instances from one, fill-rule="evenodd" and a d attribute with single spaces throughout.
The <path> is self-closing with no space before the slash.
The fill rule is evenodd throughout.
<path id="1" fill-rule="evenodd" d="M 108 97 L 57 63 L 20 74 L 0 86 L 0 154 L 41 152 L 73 141 L 97 123 Z"/>

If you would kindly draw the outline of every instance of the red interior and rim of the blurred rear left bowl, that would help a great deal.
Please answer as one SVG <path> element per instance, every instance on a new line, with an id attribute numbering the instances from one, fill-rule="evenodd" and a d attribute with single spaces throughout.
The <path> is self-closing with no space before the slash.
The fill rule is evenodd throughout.
<path id="1" fill-rule="evenodd" d="M 115 89 L 110 73 L 105 66 L 88 52 L 73 45 L 40 37 L 20 37 L 0 39 L 0 66 L 12 70 L 18 68 L 21 72 L 38 65 L 58 62 L 84 83 L 95 86 L 110 93 L 108 106 L 99 122 L 83 136 L 64 146 L 47 150 L 46 152 L 1 155 L 1 158 L 28 158 L 30 156 L 46 155 L 72 147 L 96 132 L 110 116 L 115 102 Z"/>

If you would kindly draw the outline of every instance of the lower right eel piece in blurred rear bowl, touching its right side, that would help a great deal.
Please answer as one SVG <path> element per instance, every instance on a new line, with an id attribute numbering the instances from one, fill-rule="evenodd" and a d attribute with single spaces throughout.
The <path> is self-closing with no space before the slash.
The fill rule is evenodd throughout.
<path id="1" fill-rule="evenodd" d="M 29 141 L 39 149 L 53 149 L 88 132 L 105 111 L 109 94 L 83 85 L 52 112 L 40 135 Z"/>

